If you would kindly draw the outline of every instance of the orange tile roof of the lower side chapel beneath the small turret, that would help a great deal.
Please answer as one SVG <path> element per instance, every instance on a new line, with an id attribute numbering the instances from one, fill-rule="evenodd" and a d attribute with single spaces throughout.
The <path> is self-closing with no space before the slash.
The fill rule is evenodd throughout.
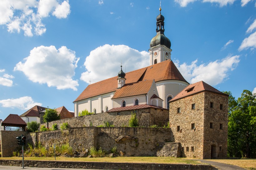
<path id="1" fill-rule="evenodd" d="M 112 99 L 147 94 L 153 82 L 154 80 L 146 80 L 125 84 L 122 88 L 116 90 Z"/>

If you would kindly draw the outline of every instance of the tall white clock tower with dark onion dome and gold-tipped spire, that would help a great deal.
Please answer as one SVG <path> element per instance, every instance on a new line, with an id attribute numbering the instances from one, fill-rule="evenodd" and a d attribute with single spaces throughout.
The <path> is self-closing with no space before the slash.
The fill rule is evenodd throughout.
<path id="1" fill-rule="evenodd" d="M 165 17 L 161 14 L 161 4 L 159 11 L 160 14 L 156 17 L 156 35 L 150 41 L 150 65 L 171 59 L 171 41 L 164 34 Z"/>

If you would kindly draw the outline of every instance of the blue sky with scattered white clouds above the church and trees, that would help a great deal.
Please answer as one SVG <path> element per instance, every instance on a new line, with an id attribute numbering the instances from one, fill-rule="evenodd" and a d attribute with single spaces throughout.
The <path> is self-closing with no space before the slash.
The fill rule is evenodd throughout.
<path id="1" fill-rule="evenodd" d="M 159 1 L 1 0 L 0 119 L 72 103 L 87 87 L 149 65 Z M 256 92 L 255 0 L 162 0 L 171 59 L 190 83 Z"/>

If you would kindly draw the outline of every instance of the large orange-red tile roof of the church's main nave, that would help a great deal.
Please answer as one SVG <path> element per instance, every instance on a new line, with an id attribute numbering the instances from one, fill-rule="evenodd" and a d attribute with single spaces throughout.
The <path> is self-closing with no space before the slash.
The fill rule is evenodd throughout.
<path id="1" fill-rule="evenodd" d="M 126 73 L 125 78 L 126 83 L 135 83 L 152 79 L 155 79 L 155 82 L 162 80 L 181 80 L 187 83 L 171 60 L 166 60 L 145 68 L 128 72 Z M 116 88 L 117 76 L 88 85 L 74 102 L 109 92 L 115 92 Z"/>

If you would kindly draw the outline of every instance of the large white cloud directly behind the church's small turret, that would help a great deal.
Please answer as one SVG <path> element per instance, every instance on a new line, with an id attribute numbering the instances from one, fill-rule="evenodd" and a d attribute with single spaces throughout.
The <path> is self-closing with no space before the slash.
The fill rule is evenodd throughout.
<path id="1" fill-rule="evenodd" d="M 102 57 L 104 56 L 104 57 Z M 81 74 L 81 80 L 86 83 L 96 83 L 118 74 L 123 65 L 123 71 L 133 71 L 148 66 L 149 53 L 138 51 L 127 45 L 103 45 L 90 52 L 84 66 L 86 72 Z M 99 65 L 101 67 L 99 67 Z"/>

